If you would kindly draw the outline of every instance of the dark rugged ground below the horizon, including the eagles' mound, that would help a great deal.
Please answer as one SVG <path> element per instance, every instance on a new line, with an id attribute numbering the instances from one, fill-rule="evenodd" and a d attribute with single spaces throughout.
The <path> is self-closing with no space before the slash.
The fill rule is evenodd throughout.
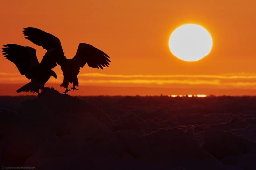
<path id="1" fill-rule="evenodd" d="M 0 165 L 256 169 L 256 97 L 0 97 Z"/>

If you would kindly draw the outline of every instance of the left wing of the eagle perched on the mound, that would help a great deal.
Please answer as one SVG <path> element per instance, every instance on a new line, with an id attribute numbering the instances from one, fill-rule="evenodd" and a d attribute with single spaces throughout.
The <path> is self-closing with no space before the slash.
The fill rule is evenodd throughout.
<path id="1" fill-rule="evenodd" d="M 17 44 L 7 44 L 3 47 L 4 57 L 17 66 L 21 75 L 25 75 L 28 79 L 33 78 L 35 69 L 39 66 L 36 50 L 32 47 Z"/>

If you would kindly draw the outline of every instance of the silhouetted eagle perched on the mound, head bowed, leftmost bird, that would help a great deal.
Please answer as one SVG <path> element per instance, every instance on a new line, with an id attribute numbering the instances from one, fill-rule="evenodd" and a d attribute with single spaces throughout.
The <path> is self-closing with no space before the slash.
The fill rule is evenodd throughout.
<path id="1" fill-rule="evenodd" d="M 39 93 L 43 90 L 45 83 L 53 76 L 57 79 L 56 73 L 52 70 L 56 64 L 56 59 L 52 57 L 54 51 L 49 50 L 45 53 L 41 62 L 38 62 L 36 50 L 32 47 L 24 47 L 17 44 L 3 45 L 3 55 L 6 59 L 13 62 L 21 75 L 25 75 L 31 82 L 22 86 L 17 92 Z"/>

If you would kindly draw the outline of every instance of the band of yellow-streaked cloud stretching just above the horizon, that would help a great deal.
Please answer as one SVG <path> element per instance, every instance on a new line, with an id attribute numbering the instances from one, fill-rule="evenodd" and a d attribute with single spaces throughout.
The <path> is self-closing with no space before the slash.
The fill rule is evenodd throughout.
<path id="1" fill-rule="evenodd" d="M 49 79 L 50 83 L 62 83 L 63 75 L 58 79 Z M 0 72 L 0 83 L 26 83 L 29 80 L 19 73 Z M 254 88 L 256 86 L 255 73 L 239 73 L 226 75 L 123 75 L 83 73 L 79 74 L 80 84 L 97 85 L 209 85 L 218 87 Z"/>

